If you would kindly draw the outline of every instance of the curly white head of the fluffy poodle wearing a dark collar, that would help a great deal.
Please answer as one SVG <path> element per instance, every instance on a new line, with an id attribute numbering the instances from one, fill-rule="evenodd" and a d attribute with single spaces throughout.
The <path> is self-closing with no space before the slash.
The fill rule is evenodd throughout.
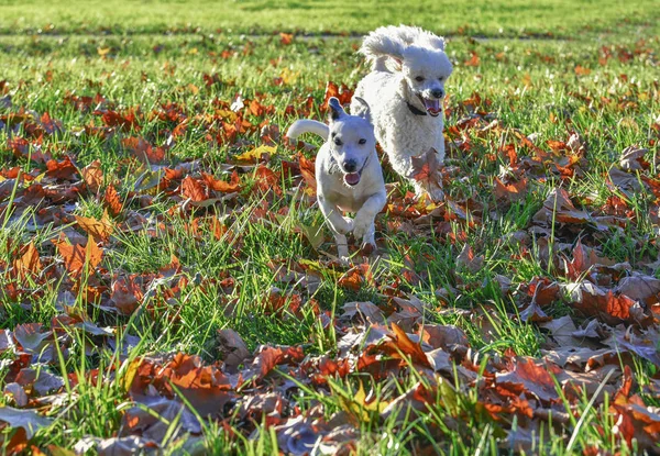
<path id="1" fill-rule="evenodd" d="M 429 115 L 439 115 L 444 82 L 453 68 L 444 51 L 408 46 L 402 53 L 400 71 L 408 88 L 408 102 L 421 105 Z"/>

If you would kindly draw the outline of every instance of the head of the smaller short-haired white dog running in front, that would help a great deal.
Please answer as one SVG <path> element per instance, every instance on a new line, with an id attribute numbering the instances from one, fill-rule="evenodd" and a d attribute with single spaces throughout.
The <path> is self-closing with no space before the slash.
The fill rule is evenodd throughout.
<path id="1" fill-rule="evenodd" d="M 369 104 L 360 97 L 354 99 L 360 105 L 356 115 L 349 115 L 334 97 L 328 102 L 330 154 L 349 187 L 360 182 L 366 162 L 376 147 Z"/>

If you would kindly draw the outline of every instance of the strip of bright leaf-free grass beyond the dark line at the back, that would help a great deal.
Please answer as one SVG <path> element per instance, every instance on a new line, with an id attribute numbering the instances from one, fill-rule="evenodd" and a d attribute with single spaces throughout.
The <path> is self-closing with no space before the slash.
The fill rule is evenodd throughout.
<path id="1" fill-rule="evenodd" d="M 651 0 L 579 2 L 417 1 L 73 1 L 65 4 L 3 0 L 3 33 L 364 33 L 382 24 L 411 23 L 443 34 L 570 37 L 622 24 L 656 24 Z"/>

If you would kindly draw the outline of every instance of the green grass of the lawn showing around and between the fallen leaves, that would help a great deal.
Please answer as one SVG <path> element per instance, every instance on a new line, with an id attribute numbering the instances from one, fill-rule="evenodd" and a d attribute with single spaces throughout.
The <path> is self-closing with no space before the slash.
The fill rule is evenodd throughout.
<path id="1" fill-rule="evenodd" d="M 9 291 L 0 292 L 0 329 L 13 331 L 25 323 L 43 323 L 52 329 L 53 318 L 66 313 L 140 337 L 136 347 L 121 354 L 111 349 L 105 336 L 66 325 L 62 341 L 66 340 L 67 353 L 56 354 L 40 368 L 68 381 L 62 401 L 42 405 L 43 413 L 55 422 L 40 431 L 32 443 L 44 448 L 72 448 L 84 437 L 116 436 L 122 430 L 122 416 L 135 405 L 125 385 L 132 375 L 131 362 L 183 352 L 213 363 L 222 357 L 217 342 L 219 330 L 237 331 L 251 352 L 262 344 L 282 344 L 301 345 L 309 356 L 336 356 L 341 334 L 333 325 L 323 325 L 311 300 L 321 313 L 334 318 L 341 315 L 344 303 L 352 301 L 372 301 L 387 309 L 388 287 L 396 287 L 431 308 L 425 315 L 427 322 L 454 324 L 465 332 L 475 363 L 482 366 L 479 381 L 468 383 L 455 374 L 453 381 L 438 377 L 438 385 L 431 385 L 411 366 L 399 377 L 380 381 L 366 374 L 330 378 L 326 389 L 315 389 L 299 382 L 299 378 L 292 380 L 284 368 L 268 381 L 298 381 L 295 393 L 287 398 L 292 408 L 295 404 L 327 420 L 348 410 L 349 421 L 358 430 L 358 454 L 414 455 L 424 448 L 455 455 L 475 454 L 477 449 L 486 454 L 514 452 L 505 437 L 518 425 L 517 418 L 513 423 L 507 421 L 510 414 L 496 421 L 483 410 L 480 381 L 487 377 L 483 369 L 510 351 L 540 358 L 549 335 L 538 324 L 520 320 L 518 304 L 524 293 L 502 292 L 496 276 L 508 278 L 512 290 L 536 277 L 569 280 L 556 265 L 548 264 L 548 247 L 538 244 L 538 238 L 522 245 L 512 236 L 534 225 L 543 201 L 561 186 L 578 207 L 590 211 L 603 207 L 608 198 L 622 198 L 632 220 L 624 229 L 609 232 L 588 225 L 557 225 L 557 232 L 546 236 L 550 244 L 574 244 L 582 237 L 600 248 L 602 256 L 628 262 L 635 270 L 658 258 L 657 196 L 649 191 L 626 194 L 605 178 L 629 145 L 649 148 L 647 159 L 658 154 L 660 13 L 653 7 L 652 1 L 575 4 L 561 0 L 537 2 L 535 7 L 520 1 L 424 1 L 402 7 L 394 2 L 343 1 L 277 5 L 199 1 L 190 5 L 0 0 L 0 80 L 6 81 L 0 84 L 0 115 L 16 113 L 21 108 L 38 115 L 47 112 L 62 129 L 43 135 L 41 152 L 55 158 L 69 155 L 79 168 L 98 158 L 103 171 L 98 193 L 75 197 L 65 220 L 40 224 L 41 210 L 61 204 L 48 201 L 36 209 L 22 208 L 21 200 L 11 196 L 15 182 L 0 179 L 0 288 L 19 287 L 18 298 Z M 187 118 L 187 130 L 166 151 L 165 163 L 174 167 L 196 162 L 201 170 L 229 180 L 230 171 L 223 166 L 261 145 L 262 138 L 258 129 L 252 129 L 239 135 L 242 142 L 216 141 L 221 125 L 219 118 L 211 120 L 213 115 L 231 115 L 226 104 L 240 94 L 273 107 L 270 113 L 248 114 L 245 119 L 254 125 L 267 121 L 284 133 L 298 118 L 287 107 L 304 111 L 308 100 L 312 103 L 309 115 L 321 118 L 319 107 L 326 84 L 331 80 L 354 88 L 367 70 L 355 53 L 358 35 L 389 23 L 413 23 L 449 36 L 448 53 L 455 70 L 448 84 L 446 133 L 449 140 L 463 141 L 466 146 L 449 153 L 447 165 L 453 167 L 454 178 L 446 190 L 450 200 L 470 200 L 481 212 L 475 212 L 476 223 L 461 218 L 437 220 L 428 226 L 415 226 L 411 234 L 388 226 L 388 222 L 402 218 L 380 215 L 383 258 L 372 262 L 373 280 L 359 290 L 341 286 L 345 268 L 328 266 L 331 257 L 324 252 L 336 251 L 327 230 L 319 251 L 300 233 L 302 225 L 320 226 L 322 218 L 290 178 L 279 179 L 282 194 L 264 196 L 256 190 L 260 177 L 254 169 L 241 169 L 243 188 L 239 194 L 218 201 L 211 209 L 180 210 L 176 189 L 179 181 L 175 180 L 166 192 L 147 189 L 145 182 L 157 182 L 163 171 L 147 169 L 122 145 L 122 140 L 130 136 L 146 138 L 154 146 L 166 144 L 172 130 Z M 280 43 L 280 31 L 296 32 L 292 45 Z M 304 38 L 302 34 L 311 36 Z M 465 65 L 473 55 L 479 56 L 479 65 Z M 207 85 L 209 77 L 216 82 Z M 90 134 L 90 126 L 102 125 L 101 113 L 95 113 L 98 102 L 78 110 L 67 100 L 97 93 L 107 100 L 109 109 L 121 113 L 132 109 L 138 127 L 107 137 Z M 477 103 L 474 93 L 482 100 L 475 110 L 490 112 L 488 121 L 497 119 L 501 131 L 472 127 L 462 134 L 451 130 Z M 3 107 L 3 96 L 10 97 L 11 107 Z M 167 118 L 168 103 L 176 103 L 178 108 L 173 112 L 179 118 Z M 520 158 L 532 155 L 519 146 L 515 131 L 537 135 L 535 143 L 544 151 L 549 151 L 547 141 L 566 141 L 571 132 L 580 133 L 587 144 L 581 173 L 562 179 L 550 173 L 552 164 L 546 163 L 540 176 L 535 178 L 534 170 L 527 174 L 530 182 L 525 199 L 499 203 L 493 192 L 494 179 L 514 173 L 501 146 L 515 143 Z M 24 124 L 12 132 L 13 136 L 30 134 Z M 7 130 L 0 131 L 2 169 L 18 166 L 34 176 L 45 170 L 43 164 L 14 156 L 9 136 Z M 267 168 L 279 175 L 286 162 L 296 158 L 282 142 L 276 143 L 277 151 Z M 33 145 L 31 154 L 37 151 Z M 305 154 L 312 157 L 312 153 Z M 642 176 L 657 176 L 656 166 L 651 164 Z M 399 180 L 388 168 L 385 173 L 388 182 Z M 100 219 L 105 210 L 102 196 L 110 183 L 117 188 L 124 211 L 112 218 L 116 231 L 103 243 L 99 269 L 85 273 L 81 282 L 111 288 L 119 276 L 157 275 L 173 257 L 180 265 L 174 277 L 161 278 L 143 290 L 140 307 L 130 315 L 105 310 L 107 290 L 100 301 L 77 292 L 64 296 L 72 285 L 63 273 L 62 256 L 51 242 L 64 232 L 82 233 L 74 215 Z M 22 186 L 15 183 L 16 191 Z M 399 201 L 402 194 L 400 189 L 395 190 L 391 202 Z M 8 205 L 22 213 L 4 210 Z M 264 205 L 279 218 L 264 216 Z M 194 232 L 191 226 L 200 216 L 222 221 L 228 232 L 216 236 L 204 224 Z M 138 223 L 140 218 L 141 227 L 120 230 L 124 223 Z M 48 273 L 16 281 L 11 265 L 16 248 L 30 242 L 47 263 Z M 457 259 L 465 243 L 475 255 L 484 256 L 479 270 L 470 271 Z M 569 257 L 571 248 L 563 252 Z M 289 271 L 296 273 L 293 279 L 285 277 Z M 310 287 L 307 282 L 311 281 L 318 287 Z M 272 309 L 274 288 L 280 290 L 284 310 Z M 297 300 L 302 305 L 296 311 Z M 565 298 L 544 311 L 553 316 L 574 314 Z M 0 357 L 8 360 L 0 363 L 0 386 L 4 387 L 3 379 L 11 375 L 8 366 L 14 358 L 9 352 L 0 353 Z M 99 369 L 101 380 L 92 380 L 90 369 Z M 657 369 L 635 357 L 635 375 L 641 386 L 651 383 Z M 346 405 L 360 385 L 367 390 L 373 387 L 388 402 L 418 382 L 437 394 L 425 413 L 409 412 L 398 420 L 396 413 L 380 418 L 373 410 L 356 412 Z M 557 411 L 569 410 L 572 414 L 554 426 L 543 421 L 538 429 L 541 436 L 528 451 L 568 455 L 597 447 L 635 454 L 635 448 L 613 431 L 607 402 L 613 400 L 613 388 L 595 405 L 586 392 L 566 398 L 565 391 L 559 387 L 557 390 Z M 658 405 L 652 393 L 641 394 L 647 405 Z M 9 396 L 0 397 L 0 403 L 12 404 Z M 254 423 L 231 414 L 223 418 L 205 422 L 201 436 L 193 440 L 179 433 L 179 418 L 168 421 L 168 434 L 162 442 L 165 452 L 191 452 L 194 444 L 202 445 L 209 454 L 287 451 L 279 447 L 265 416 Z M 2 433 L 10 436 L 12 432 L 0 427 L 0 442 L 7 444 Z M 572 442 L 570 448 L 568 442 Z"/>

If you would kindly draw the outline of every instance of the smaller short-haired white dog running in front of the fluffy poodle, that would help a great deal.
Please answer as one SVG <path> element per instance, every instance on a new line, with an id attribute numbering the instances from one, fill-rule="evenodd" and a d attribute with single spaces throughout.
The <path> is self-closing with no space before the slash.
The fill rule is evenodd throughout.
<path id="1" fill-rule="evenodd" d="M 360 108 L 360 115 L 346 114 L 333 97 L 328 103 L 328 125 L 298 120 L 286 133 L 294 140 L 302 133 L 316 133 L 326 140 L 316 158 L 317 200 L 342 260 L 349 257 L 350 232 L 362 240 L 363 246 L 375 248 L 374 219 L 387 202 L 371 110 L 359 98 L 353 98 L 353 103 Z M 353 212 L 355 218 L 343 216 L 343 212 Z"/>

